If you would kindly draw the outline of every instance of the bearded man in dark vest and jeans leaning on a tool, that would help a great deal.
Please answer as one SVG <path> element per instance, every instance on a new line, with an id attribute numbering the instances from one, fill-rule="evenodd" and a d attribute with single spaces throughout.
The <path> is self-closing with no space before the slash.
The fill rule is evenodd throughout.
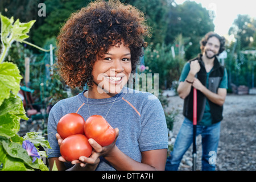
<path id="1" fill-rule="evenodd" d="M 201 54 L 184 65 L 177 88 L 184 99 L 183 125 L 177 135 L 166 170 L 177 170 L 193 139 L 193 89 L 197 89 L 197 133 L 202 136 L 202 170 L 214 171 L 220 121 L 226 97 L 227 73 L 217 56 L 225 49 L 225 38 L 209 32 L 200 42 Z M 209 160 L 210 159 L 210 160 Z M 169 163 L 169 164 L 168 164 Z"/>

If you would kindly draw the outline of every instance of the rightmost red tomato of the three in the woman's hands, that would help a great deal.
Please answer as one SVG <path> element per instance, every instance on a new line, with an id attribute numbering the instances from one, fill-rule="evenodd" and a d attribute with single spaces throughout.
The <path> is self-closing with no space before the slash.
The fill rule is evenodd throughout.
<path id="1" fill-rule="evenodd" d="M 115 130 L 101 115 L 92 115 L 85 121 L 84 133 L 102 147 L 108 146 L 115 140 Z"/>

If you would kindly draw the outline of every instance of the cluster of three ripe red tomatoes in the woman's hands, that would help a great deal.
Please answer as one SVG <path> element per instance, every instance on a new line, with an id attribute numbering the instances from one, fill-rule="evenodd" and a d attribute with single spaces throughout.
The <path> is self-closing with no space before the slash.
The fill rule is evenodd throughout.
<path id="1" fill-rule="evenodd" d="M 92 115 L 84 121 L 80 114 L 66 114 L 57 124 L 57 133 L 63 139 L 60 154 L 69 162 L 79 159 L 80 156 L 89 157 L 92 154 L 89 138 L 94 139 L 102 147 L 115 140 L 115 130 L 101 115 Z"/>

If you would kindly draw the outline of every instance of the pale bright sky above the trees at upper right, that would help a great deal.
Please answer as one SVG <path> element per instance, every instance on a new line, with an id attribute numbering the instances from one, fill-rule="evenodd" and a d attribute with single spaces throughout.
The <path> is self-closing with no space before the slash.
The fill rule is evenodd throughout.
<path id="1" fill-rule="evenodd" d="M 255 0 L 191 0 L 201 3 L 203 7 L 209 10 L 209 15 L 215 16 L 213 23 L 214 32 L 219 35 L 227 35 L 234 19 L 238 14 L 248 14 L 251 18 L 256 18 Z M 175 0 L 177 4 L 182 4 L 185 0 Z"/>

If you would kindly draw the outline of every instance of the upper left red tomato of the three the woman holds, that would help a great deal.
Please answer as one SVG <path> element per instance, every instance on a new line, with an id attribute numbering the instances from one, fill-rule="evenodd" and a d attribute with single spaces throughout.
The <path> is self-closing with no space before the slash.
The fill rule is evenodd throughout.
<path id="1" fill-rule="evenodd" d="M 62 139 L 75 134 L 84 134 L 84 118 L 77 113 L 69 113 L 60 118 L 57 133 Z"/>

